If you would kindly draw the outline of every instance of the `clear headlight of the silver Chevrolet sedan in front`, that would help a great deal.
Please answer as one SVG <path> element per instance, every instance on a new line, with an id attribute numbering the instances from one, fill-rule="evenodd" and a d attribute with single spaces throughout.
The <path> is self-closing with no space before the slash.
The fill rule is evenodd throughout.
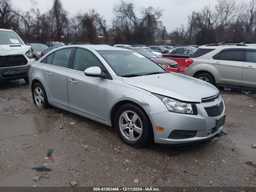
<path id="1" fill-rule="evenodd" d="M 165 106 L 170 112 L 197 115 L 196 104 L 182 102 L 158 94 L 154 95 L 164 102 Z"/>

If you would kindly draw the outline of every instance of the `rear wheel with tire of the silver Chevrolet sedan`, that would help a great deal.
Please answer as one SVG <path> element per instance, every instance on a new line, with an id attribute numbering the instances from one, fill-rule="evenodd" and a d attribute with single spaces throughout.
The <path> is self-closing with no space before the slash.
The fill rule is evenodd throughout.
<path id="1" fill-rule="evenodd" d="M 47 95 L 44 87 L 40 83 L 35 83 L 32 90 L 34 104 L 38 107 L 44 109 L 48 108 L 50 105 L 48 103 Z"/>

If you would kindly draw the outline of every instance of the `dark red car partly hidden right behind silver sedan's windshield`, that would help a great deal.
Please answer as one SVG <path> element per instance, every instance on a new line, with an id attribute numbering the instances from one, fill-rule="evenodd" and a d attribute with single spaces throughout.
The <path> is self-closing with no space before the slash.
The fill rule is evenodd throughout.
<path id="1" fill-rule="evenodd" d="M 143 56 L 156 62 L 158 65 L 160 65 L 167 71 L 176 72 L 176 73 L 178 73 L 180 71 L 178 63 L 173 60 L 166 59 L 166 58 L 158 58 L 152 52 L 150 52 L 144 48 L 141 48 L 141 47 L 128 47 L 127 49 L 134 50 L 134 51 L 142 54 Z"/>

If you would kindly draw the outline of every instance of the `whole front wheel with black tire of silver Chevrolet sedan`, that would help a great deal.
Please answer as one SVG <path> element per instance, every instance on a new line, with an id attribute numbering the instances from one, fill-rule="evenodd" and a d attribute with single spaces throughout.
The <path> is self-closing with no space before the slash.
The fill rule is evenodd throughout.
<path id="1" fill-rule="evenodd" d="M 117 110 L 115 128 L 120 138 L 133 147 L 145 146 L 151 138 L 148 117 L 134 104 L 124 104 Z"/>

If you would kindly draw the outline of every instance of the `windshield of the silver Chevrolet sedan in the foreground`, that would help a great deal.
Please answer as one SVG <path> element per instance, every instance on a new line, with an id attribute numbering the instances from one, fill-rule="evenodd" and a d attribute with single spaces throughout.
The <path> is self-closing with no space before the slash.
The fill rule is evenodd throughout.
<path id="1" fill-rule="evenodd" d="M 118 76 L 140 76 L 154 72 L 166 72 L 158 64 L 133 51 L 105 50 L 98 53 L 108 62 Z"/>

